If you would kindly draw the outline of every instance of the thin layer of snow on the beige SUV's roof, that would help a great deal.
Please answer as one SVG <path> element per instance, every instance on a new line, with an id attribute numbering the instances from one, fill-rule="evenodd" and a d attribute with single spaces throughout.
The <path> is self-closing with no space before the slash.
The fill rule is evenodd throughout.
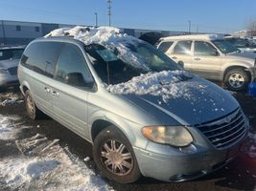
<path id="1" fill-rule="evenodd" d="M 193 34 L 193 35 L 177 35 L 177 36 L 168 36 L 162 37 L 160 40 L 168 41 L 168 40 L 217 40 L 223 39 L 224 36 L 222 34 Z"/>

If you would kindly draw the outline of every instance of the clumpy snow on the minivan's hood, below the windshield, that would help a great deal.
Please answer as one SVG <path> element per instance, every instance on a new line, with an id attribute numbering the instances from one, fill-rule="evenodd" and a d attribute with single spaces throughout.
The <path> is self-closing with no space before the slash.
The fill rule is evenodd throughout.
<path id="1" fill-rule="evenodd" d="M 196 76 L 185 71 L 141 74 L 131 78 L 128 82 L 109 85 L 107 90 L 114 94 L 161 96 L 166 102 L 172 97 L 190 98 L 193 96 L 193 89 L 203 91 L 206 86 L 201 85 L 202 81 L 198 84 L 196 81 L 186 80 L 193 77 Z"/>

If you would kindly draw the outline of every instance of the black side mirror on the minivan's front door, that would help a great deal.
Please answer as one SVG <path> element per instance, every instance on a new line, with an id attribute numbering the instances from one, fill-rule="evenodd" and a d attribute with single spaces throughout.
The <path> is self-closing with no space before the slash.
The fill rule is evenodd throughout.
<path id="1" fill-rule="evenodd" d="M 66 83 L 72 86 L 78 86 L 78 87 L 93 87 L 93 80 L 90 80 L 88 82 L 84 81 L 83 76 L 81 73 L 69 73 L 66 75 Z"/>

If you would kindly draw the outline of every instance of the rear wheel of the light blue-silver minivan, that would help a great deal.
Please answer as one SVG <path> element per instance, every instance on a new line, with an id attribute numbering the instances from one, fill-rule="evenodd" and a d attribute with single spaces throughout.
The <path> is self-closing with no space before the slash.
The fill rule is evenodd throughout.
<path id="1" fill-rule="evenodd" d="M 41 111 L 36 107 L 35 101 L 29 90 L 25 93 L 25 105 L 27 114 L 32 119 L 37 119 L 41 116 Z"/>

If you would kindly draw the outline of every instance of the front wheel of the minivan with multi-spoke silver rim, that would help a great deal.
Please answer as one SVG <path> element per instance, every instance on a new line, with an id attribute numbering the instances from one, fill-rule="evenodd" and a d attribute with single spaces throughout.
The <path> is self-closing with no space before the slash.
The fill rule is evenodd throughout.
<path id="1" fill-rule="evenodd" d="M 93 157 L 109 180 L 129 183 L 141 173 L 128 138 L 113 125 L 105 128 L 94 140 Z"/>

